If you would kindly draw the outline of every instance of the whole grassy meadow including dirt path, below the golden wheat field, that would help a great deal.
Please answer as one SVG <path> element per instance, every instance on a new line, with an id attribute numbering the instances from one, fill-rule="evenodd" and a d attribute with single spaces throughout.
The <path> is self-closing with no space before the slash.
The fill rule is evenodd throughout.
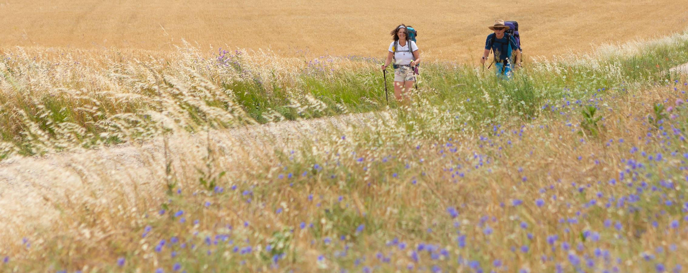
<path id="1" fill-rule="evenodd" d="M 377 58 L 2 54 L 1 271 L 688 266 L 686 32 L 424 62 L 403 107 Z"/>

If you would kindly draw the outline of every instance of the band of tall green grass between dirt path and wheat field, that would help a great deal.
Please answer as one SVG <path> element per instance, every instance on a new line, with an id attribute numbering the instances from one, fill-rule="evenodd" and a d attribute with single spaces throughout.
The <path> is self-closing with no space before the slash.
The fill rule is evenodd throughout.
<path id="1" fill-rule="evenodd" d="M 627 47 L 639 48 L 632 54 L 625 53 Z M 447 62 L 425 62 L 421 65 L 419 88 L 422 98 L 429 100 L 433 105 L 461 105 L 464 114 L 470 115 L 469 120 L 503 120 L 504 118 L 522 117 L 533 118 L 539 115 L 541 108 L 548 102 L 562 97 L 579 98 L 583 94 L 608 93 L 610 88 L 624 89 L 627 86 L 648 85 L 651 83 L 668 83 L 669 80 L 678 78 L 678 75 L 660 73 L 682 63 L 688 63 L 688 41 L 680 36 L 671 43 L 649 43 L 638 46 L 635 44 L 623 45 L 618 52 L 600 56 L 569 56 L 561 61 L 544 61 L 527 63 L 523 69 L 515 72 L 512 80 L 500 80 L 493 75 L 491 70 L 482 72 L 471 65 Z M 252 57 L 252 56 L 251 56 Z M 203 128 L 206 122 L 211 127 L 234 127 L 237 121 L 226 120 L 217 116 L 208 115 L 202 105 L 217 108 L 220 111 L 232 110 L 233 105 L 244 111 L 246 116 L 239 118 L 238 123 L 259 122 L 265 123 L 274 120 L 268 116 L 279 116 L 279 119 L 296 120 L 299 118 L 319 118 L 341 113 L 362 113 L 368 111 L 380 111 L 388 107 L 385 99 L 385 87 L 382 72 L 377 69 L 381 60 L 374 58 L 335 58 L 327 57 L 310 61 L 305 67 L 284 72 L 287 67 L 276 65 L 261 65 L 264 61 L 260 58 L 266 56 L 249 57 L 245 52 L 237 54 L 218 55 L 217 59 L 202 60 L 187 59 L 182 63 L 204 63 L 194 65 L 189 69 L 173 67 L 172 63 L 160 65 L 152 62 L 122 71 L 129 78 L 129 82 L 135 82 L 142 87 L 136 92 L 140 98 L 120 102 L 107 95 L 96 95 L 89 89 L 96 88 L 93 83 L 82 80 L 65 80 L 72 88 L 84 88 L 78 91 L 81 98 L 75 99 L 74 92 L 59 94 L 43 94 L 44 86 L 36 86 L 34 82 L 27 82 L 28 78 L 23 74 L 39 73 L 32 67 L 51 66 L 58 61 L 17 60 L 3 58 L 3 76 L 10 83 L 10 92 L 5 100 L 0 103 L 5 105 L 0 109 L 3 113 L 0 118 L 0 135 L 3 142 L 10 142 L 14 146 L 21 147 L 17 152 L 21 155 L 33 155 L 43 153 L 51 149 L 46 148 L 46 143 L 64 131 L 56 132 L 56 124 L 72 122 L 85 133 L 76 133 L 76 142 L 83 146 L 93 144 L 121 142 L 122 135 L 111 138 L 108 133 L 112 129 L 125 131 L 131 127 L 152 126 L 160 127 L 157 122 L 146 122 L 144 112 L 162 111 L 158 106 L 161 100 L 171 99 L 180 105 L 175 115 L 190 118 L 191 124 L 186 127 L 190 131 Z M 186 56 L 189 58 L 189 56 Z M 34 62 L 34 63 L 32 63 Z M 217 65 L 218 63 L 230 65 Z M 337 62 L 345 65 L 337 66 Z M 347 63 L 348 62 L 348 63 Z M 271 67 L 271 68 L 270 68 Z M 70 69 L 79 69 L 74 65 Z M 143 70 L 143 72 L 141 71 Z M 107 70 L 94 69 L 92 74 L 84 74 L 84 77 L 108 76 Z M 152 74 L 152 82 L 147 83 Z M 393 73 L 389 69 L 387 88 L 389 106 L 397 108 L 394 99 Z M 74 76 L 78 77 L 78 71 Z M 83 72 L 82 72 L 83 73 Z M 163 80 L 165 75 L 173 76 L 178 80 L 188 78 L 190 82 L 177 81 L 175 84 Z M 199 77 L 207 77 L 203 83 Z M 197 83 L 194 83 L 197 82 Z M 50 83 L 48 83 L 50 85 Z M 217 87 L 208 87 L 214 84 Z M 157 87 L 153 88 L 153 86 Z M 178 86 L 180 85 L 180 86 Z M 178 88 L 186 91 L 178 91 Z M 209 88 L 209 89 L 208 89 Z M 33 91 L 36 89 L 36 91 Z M 158 91 L 156 91 L 158 90 Z M 112 90 L 118 92 L 118 90 Z M 23 96 L 20 94 L 26 94 Z M 44 92 L 44 91 L 43 91 Z M 132 91 L 128 91 L 132 92 Z M 162 97 L 162 93 L 171 92 L 169 96 Z M 12 94 L 13 93 L 13 94 Z M 37 94 L 34 95 L 31 94 Z M 324 109 L 314 109 L 312 102 L 306 98 L 310 96 L 325 105 Z M 231 101 L 231 105 L 230 102 Z M 302 107 L 298 109 L 294 102 Z M 455 107 L 454 106 L 454 107 Z M 85 110 L 92 109 L 92 110 Z M 47 114 L 43 114 L 47 113 Z M 97 126 L 98 122 L 112 124 L 108 119 L 117 114 L 129 113 L 133 115 L 128 122 L 120 127 Z M 27 116 L 29 121 L 35 124 L 34 129 L 28 128 L 26 120 L 21 116 Z M 242 115 L 239 115 L 242 116 Z M 138 120 L 137 120 L 138 119 Z M 159 129 L 151 129 L 160 131 Z M 149 130 L 149 131 L 151 131 Z M 74 131 L 69 133 L 75 134 Z M 30 137 L 34 135 L 34 137 Z M 36 136 L 38 135 L 38 136 Z M 139 138 L 133 133 L 125 133 L 127 138 Z M 2 152 L 3 157 L 6 153 Z"/>

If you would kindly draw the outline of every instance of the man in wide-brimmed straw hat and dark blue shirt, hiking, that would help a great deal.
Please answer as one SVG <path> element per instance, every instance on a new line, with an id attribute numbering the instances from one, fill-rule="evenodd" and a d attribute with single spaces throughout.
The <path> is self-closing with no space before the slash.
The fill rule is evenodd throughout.
<path id="1" fill-rule="evenodd" d="M 494 52 L 495 74 L 499 78 L 511 78 L 511 54 L 516 52 L 516 58 L 513 63 L 519 63 L 521 59 L 521 47 L 517 45 L 516 40 L 509 34 L 504 34 L 509 29 L 508 25 L 504 25 L 504 20 L 495 21 L 495 25 L 489 27 L 495 33 L 487 36 L 485 41 L 485 52 L 482 54 L 480 63 L 484 65 L 487 57 L 490 56 L 490 50 Z M 514 69 L 516 67 L 513 67 Z"/>

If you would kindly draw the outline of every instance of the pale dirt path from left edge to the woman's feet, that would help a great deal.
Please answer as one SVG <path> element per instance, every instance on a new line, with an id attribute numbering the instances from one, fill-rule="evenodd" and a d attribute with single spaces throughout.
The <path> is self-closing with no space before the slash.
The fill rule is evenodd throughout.
<path id="1" fill-rule="evenodd" d="M 213 144 L 228 149 L 237 149 L 237 145 L 242 149 L 257 145 L 290 145 L 303 135 L 325 130 L 344 131 L 350 124 L 364 124 L 380 113 L 251 125 L 211 131 L 209 138 Z M 168 138 L 171 157 L 190 150 L 204 153 L 207 140 L 208 134 L 204 132 L 172 135 Z M 151 164 L 146 162 L 164 158 L 163 143 L 162 138 L 156 138 L 142 144 L 120 144 L 43 157 L 12 157 L 0 162 L 0 230 L 11 237 L 28 224 L 49 223 L 59 213 L 50 205 L 52 199 L 69 196 L 75 188 L 103 187 L 92 184 L 94 182 L 120 183 L 127 188 L 133 184 L 160 188 L 160 185 L 147 185 L 156 175 L 160 177 L 160 170 L 151 170 Z M 103 182 L 104 175 L 111 181 Z M 88 187 L 85 184 L 89 184 Z"/>

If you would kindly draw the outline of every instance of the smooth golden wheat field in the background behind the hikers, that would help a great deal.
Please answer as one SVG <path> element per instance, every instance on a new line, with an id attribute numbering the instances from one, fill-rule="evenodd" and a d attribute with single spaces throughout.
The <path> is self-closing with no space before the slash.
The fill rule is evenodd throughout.
<path id="1" fill-rule="evenodd" d="M 400 2 L 402 3 L 402 2 Z M 685 0 L 660 1 L 0 1 L 0 47 L 271 48 L 280 55 L 385 56 L 399 23 L 430 58 L 477 60 L 495 19 L 519 21 L 527 56 L 685 30 Z"/>

